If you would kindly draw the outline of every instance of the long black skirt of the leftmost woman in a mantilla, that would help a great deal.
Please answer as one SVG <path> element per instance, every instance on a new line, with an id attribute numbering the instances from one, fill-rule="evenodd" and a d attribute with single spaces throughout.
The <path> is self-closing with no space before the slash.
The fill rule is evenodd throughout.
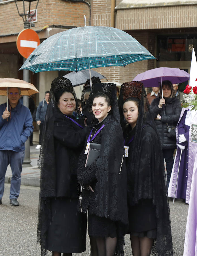
<path id="1" fill-rule="evenodd" d="M 52 222 L 45 249 L 63 253 L 86 250 L 87 215 L 77 211 L 78 199 L 56 197 L 51 201 Z"/>

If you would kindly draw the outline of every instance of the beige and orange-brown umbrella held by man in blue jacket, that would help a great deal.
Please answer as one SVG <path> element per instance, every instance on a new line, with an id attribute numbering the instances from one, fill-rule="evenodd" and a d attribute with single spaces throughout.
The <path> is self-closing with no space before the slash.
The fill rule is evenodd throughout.
<path id="1" fill-rule="evenodd" d="M 15 78 L 0 78 L 0 95 L 7 96 L 8 87 L 18 87 L 21 89 L 21 95 L 32 95 L 39 92 L 33 84 L 30 84 L 24 80 Z M 7 98 L 8 109 L 8 98 Z"/>

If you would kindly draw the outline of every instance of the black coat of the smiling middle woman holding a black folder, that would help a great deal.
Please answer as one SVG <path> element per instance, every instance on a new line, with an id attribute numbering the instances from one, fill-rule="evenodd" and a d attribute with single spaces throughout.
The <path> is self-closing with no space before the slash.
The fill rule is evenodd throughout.
<path id="1" fill-rule="evenodd" d="M 124 163 L 123 134 L 120 124 L 110 115 L 101 123 L 88 127 L 86 140 L 93 129 L 92 134 L 101 127 L 105 127 L 98 133 L 93 143 L 101 144 L 99 157 L 88 167 L 85 167 L 87 155 L 84 154 L 86 144 L 79 158 L 77 178 L 82 187 L 91 185 L 94 193 L 82 189 L 80 195 L 81 205 L 79 211 L 110 220 L 128 223 L 127 212 L 127 188 L 126 167 Z M 95 129 L 96 128 L 96 129 Z M 80 186 L 81 190 L 81 186 Z"/>

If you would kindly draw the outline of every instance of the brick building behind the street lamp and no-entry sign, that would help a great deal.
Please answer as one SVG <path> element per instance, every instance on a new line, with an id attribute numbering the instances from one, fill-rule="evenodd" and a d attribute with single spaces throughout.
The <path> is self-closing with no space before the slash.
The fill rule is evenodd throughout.
<path id="1" fill-rule="evenodd" d="M 31 10 L 35 9 L 37 1 L 31 3 Z M 22 1 L 17 1 L 20 13 L 23 13 Z M 26 10 L 29 3 L 25 2 Z M 39 0 L 37 6 L 37 21 L 33 22 L 35 30 L 43 42 L 63 30 L 73 27 L 84 26 L 84 15 L 87 25 L 90 25 L 90 3 L 86 0 Z M 24 29 L 22 17 L 18 15 L 14 0 L 0 0 L 0 77 L 23 79 L 23 71 L 18 71 L 24 62 L 16 47 L 18 34 Z M 46 90 L 50 89 L 51 81 L 59 75 L 58 71 L 41 72 L 33 74 L 29 71 L 29 82 L 39 90 L 35 103 L 44 98 Z M 6 97 L 0 96 L 0 104 L 5 102 Z"/>

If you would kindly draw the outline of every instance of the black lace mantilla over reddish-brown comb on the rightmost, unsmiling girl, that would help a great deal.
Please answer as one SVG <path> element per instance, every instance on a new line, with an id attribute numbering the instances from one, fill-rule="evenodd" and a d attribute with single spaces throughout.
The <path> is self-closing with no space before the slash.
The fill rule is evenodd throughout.
<path id="1" fill-rule="evenodd" d="M 129 127 L 127 127 L 124 121 L 122 106 L 124 101 L 131 97 L 140 100 L 140 106 L 135 126 L 134 140 L 131 144 L 132 153 L 130 153 L 127 162 L 128 203 L 132 206 L 138 203 L 138 200 L 140 199 L 152 199 L 152 203 L 156 207 L 157 239 L 154 241 L 151 255 L 172 256 L 170 209 L 165 184 L 166 175 L 162 148 L 154 119 L 151 114 L 146 91 L 141 82 L 126 82 L 121 86 L 118 104 L 121 125 L 124 133 L 127 133 Z M 150 136 L 142 136 L 143 127 L 145 126 L 154 129 L 154 131 L 151 129 L 151 133 L 149 132 Z M 146 134 L 148 135 L 148 133 Z M 142 146 L 144 147 L 144 145 L 147 144 L 151 145 L 152 151 L 150 161 L 144 163 L 146 172 L 149 170 L 148 175 L 150 179 L 148 184 L 140 167 L 140 163 L 141 166 L 143 163 L 143 156 L 141 155 Z"/>

